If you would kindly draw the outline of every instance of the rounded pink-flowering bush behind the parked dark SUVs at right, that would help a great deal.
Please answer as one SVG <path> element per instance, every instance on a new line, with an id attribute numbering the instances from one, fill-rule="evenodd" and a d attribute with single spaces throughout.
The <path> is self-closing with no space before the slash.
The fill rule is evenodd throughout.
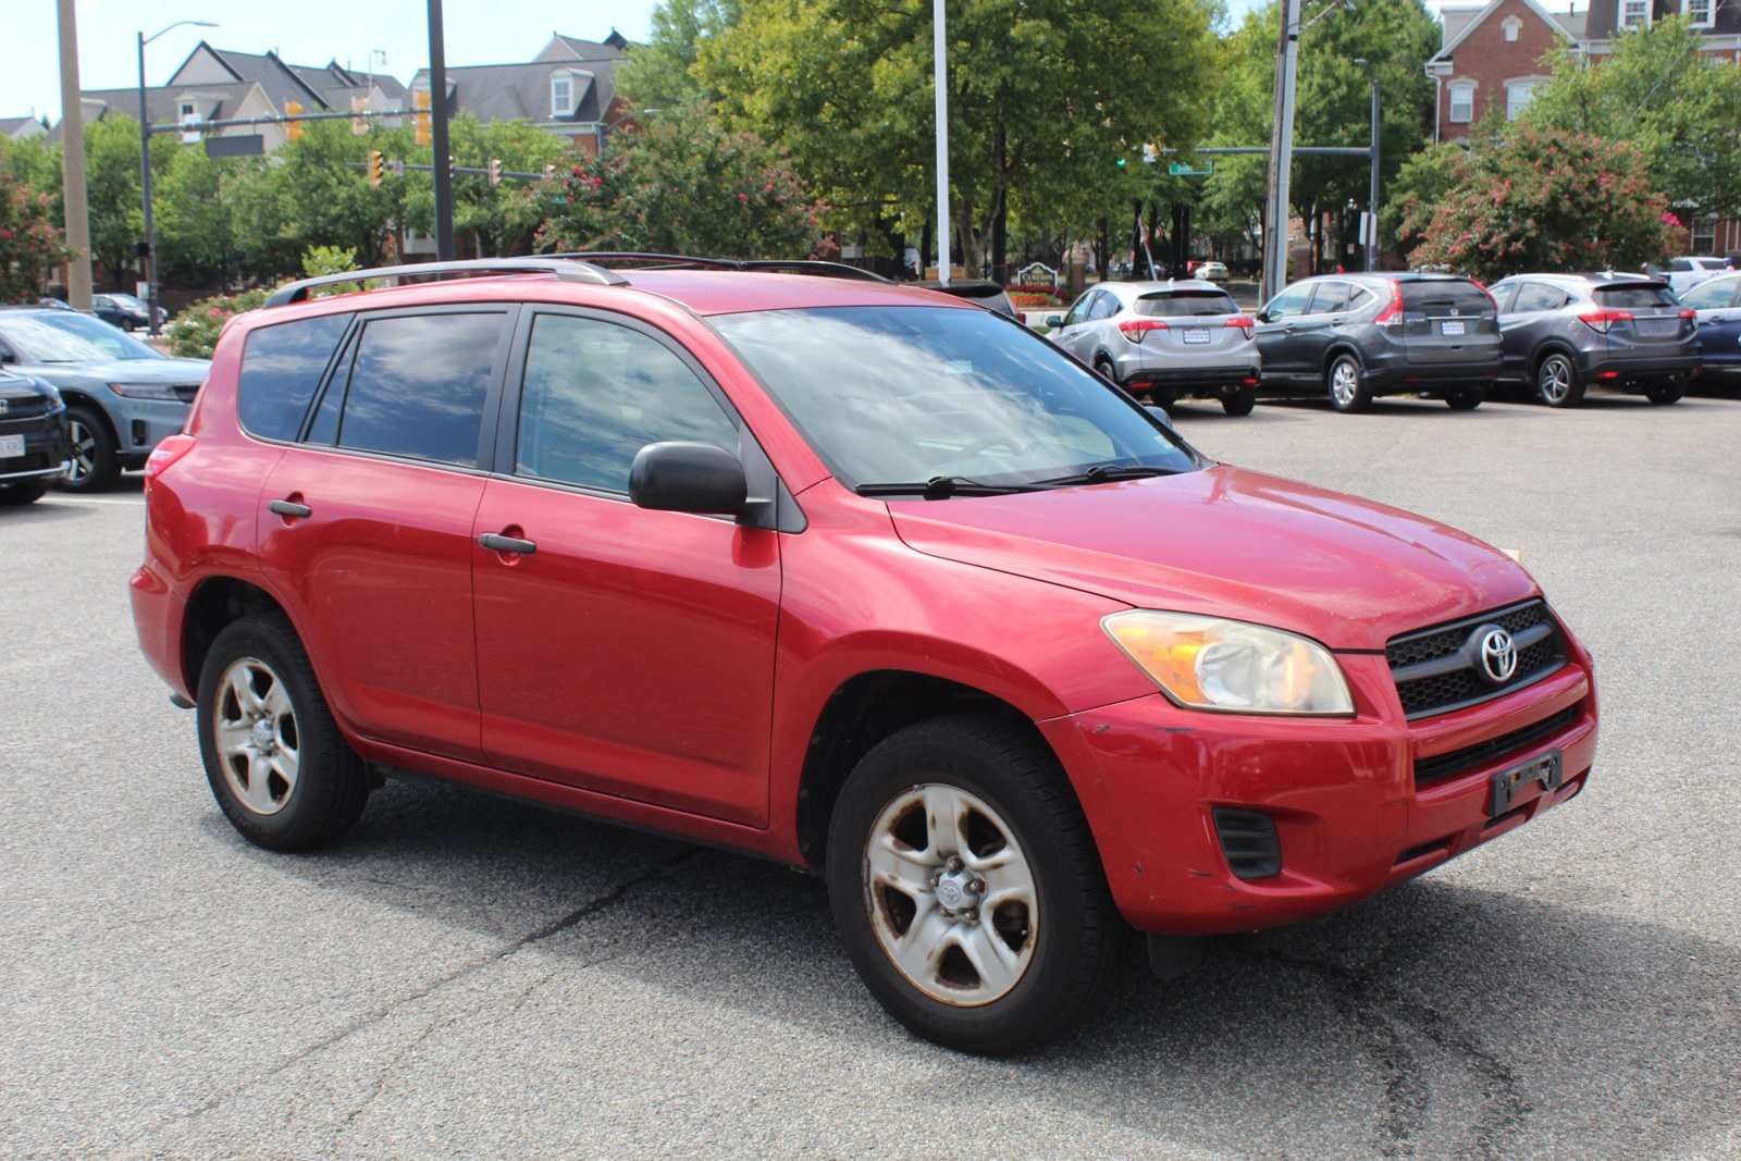
<path id="1" fill-rule="evenodd" d="M 1492 282 L 1525 270 L 1637 270 L 1668 252 L 1678 219 L 1624 141 L 1523 131 L 1452 162 L 1454 185 L 1414 202 L 1410 261 Z"/>

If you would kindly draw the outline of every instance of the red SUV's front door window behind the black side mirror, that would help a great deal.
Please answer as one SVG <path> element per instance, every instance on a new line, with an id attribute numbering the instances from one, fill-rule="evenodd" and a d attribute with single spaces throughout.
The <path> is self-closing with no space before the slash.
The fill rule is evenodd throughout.
<path id="1" fill-rule="evenodd" d="M 738 449 L 738 430 L 693 371 L 655 339 L 597 319 L 540 315 L 521 392 L 514 470 L 629 491 L 648 444 L 681 439 Z"/>

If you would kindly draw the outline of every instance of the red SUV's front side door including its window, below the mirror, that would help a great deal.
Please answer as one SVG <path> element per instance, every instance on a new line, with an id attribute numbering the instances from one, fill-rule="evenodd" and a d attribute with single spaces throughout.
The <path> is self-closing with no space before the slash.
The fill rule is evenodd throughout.
<path id="1" fill-rule="evenodd" d="M 528 310 L 515 348 L 472 520 L 487 762 L 766 825 L 778 533 L 629 500 L 646 444 L 759 451 L 651 327 Z"/>

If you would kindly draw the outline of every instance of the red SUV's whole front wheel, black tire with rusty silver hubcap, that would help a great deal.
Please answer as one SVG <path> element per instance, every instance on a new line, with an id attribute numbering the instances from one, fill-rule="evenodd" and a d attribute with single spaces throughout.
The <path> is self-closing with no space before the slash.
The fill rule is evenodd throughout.
<path id="1" fill-rule="evenodd" d="M 951 804 L 958 822 L 940 825 Z M 872 844 L 877 834 L 888 842 Z M 876 874 L 872 858 L 905 869 L 911 891 Z M 827 874 L 834 921 L 870 994 L 909 1030 L 961 1051 L 1003 1055 L 1060 1034 L 1102 990 L 1128 936 L 1057 759 L 989 717 L 933 719 L 877 743 L 834 806 Z M 918 978 L 891 950 L 909 931 Z"/>

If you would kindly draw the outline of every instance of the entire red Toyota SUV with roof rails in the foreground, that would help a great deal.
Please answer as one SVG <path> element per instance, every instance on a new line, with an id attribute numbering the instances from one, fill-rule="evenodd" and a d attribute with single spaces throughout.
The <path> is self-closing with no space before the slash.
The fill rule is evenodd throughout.
<path id="1" fill-rule="evenodd" d="M 407 769 L 754 851 L 827 877 L 895 1018 L 996 1053 L 1132 928 L 1177 973 L 1590 775 L 1590 656 L 1518 564 L 1213 463 L 971 303 L 341 277 L 383 273 L 456 277 L 233 319 L 148 466 L 139 641 L 261 846 Z"/>

